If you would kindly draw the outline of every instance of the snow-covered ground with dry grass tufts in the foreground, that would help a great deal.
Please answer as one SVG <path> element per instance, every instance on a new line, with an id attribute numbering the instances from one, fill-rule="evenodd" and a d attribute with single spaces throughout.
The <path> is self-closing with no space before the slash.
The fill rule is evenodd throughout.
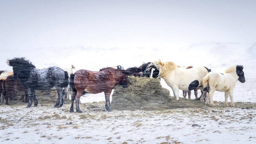
<path id="1" fill-rule="evenodd" d="M 1 106 L 0 143 L 255 144 L 255 103 L 222 106 L 106 112 L 104 103 L 86 103 L 82 114 L 68 112 L 70 104 Z"/>

